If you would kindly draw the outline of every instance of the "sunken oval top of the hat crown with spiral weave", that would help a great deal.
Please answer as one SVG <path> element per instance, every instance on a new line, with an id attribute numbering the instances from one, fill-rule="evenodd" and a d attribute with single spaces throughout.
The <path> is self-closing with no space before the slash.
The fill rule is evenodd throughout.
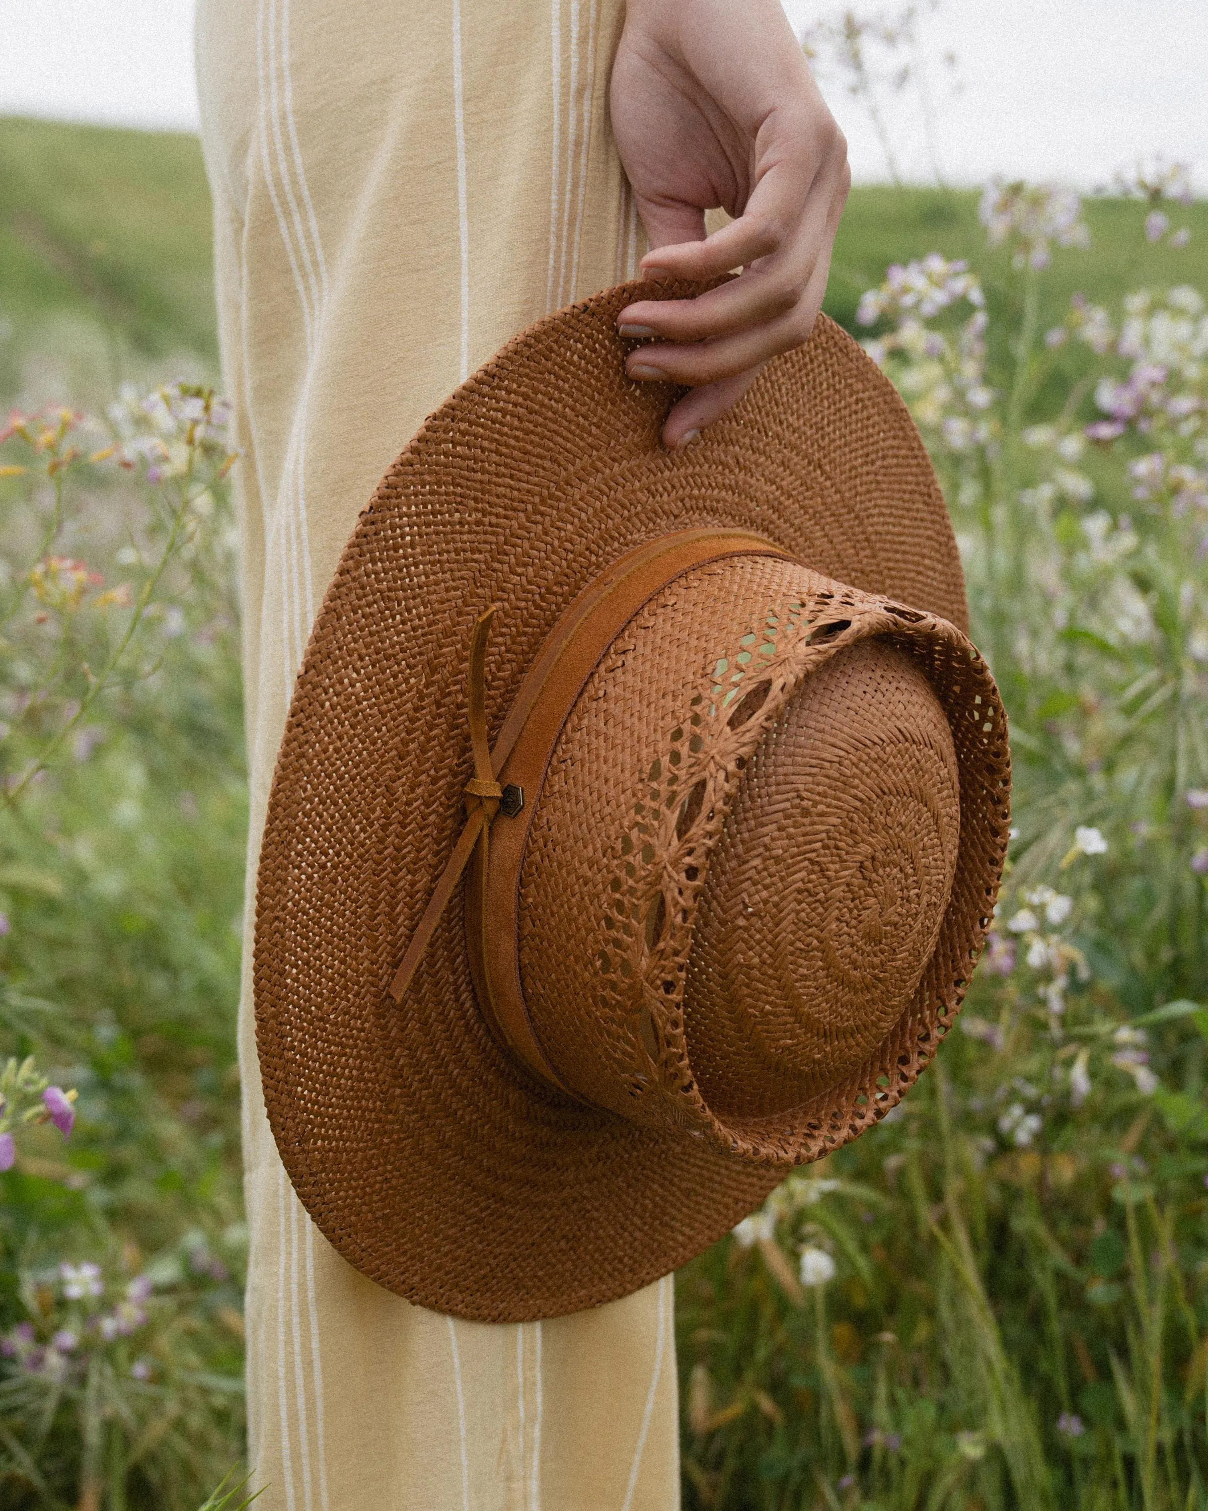
<path id="1" fill-rule="evenodd" d="M 959 836 L 927 678 L 877 641 L 838 651 L 764 734 L 710 860 L 684 1029 L 714 1112 L 788 1112 L 880 1044 L 935 952 Z"/>

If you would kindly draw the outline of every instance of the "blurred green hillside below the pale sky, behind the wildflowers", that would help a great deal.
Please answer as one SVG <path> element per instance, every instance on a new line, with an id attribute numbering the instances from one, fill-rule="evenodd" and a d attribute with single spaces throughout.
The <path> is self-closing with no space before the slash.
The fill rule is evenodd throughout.
<path id="1" fill-rule="evenodd" d="M 929 251 L 980 254 L 988 283 L 1007 284 L 1006 277 L 994 278 L 1006 273 L 1006 258 L 985 255 L 977 201 L 972 190 L 853 189 L 835 243 L 827 313 L 855 328 L 859 296 L 886 264 Z M 1139 243 L 1134 204 L 1092 201 L 1087 221 L 1101 301 L 1136 287 L 1142 269 L 1157 284 L 1197 280 L 1208 204 L 1179 213 L 1193 231 L 1179 249 Z M 210 257 L 210 201 L 196 138 L 0 119 L 0 319 L 11 326 L 0 391 L 15 391 L 30 354 L 77 348 L 80 326 L 104 345 L 107 388 L 139 360 L 180 352 L 216 369 Z M 1060 319 L 1084 267 L 1068 260 L 1054 269 L 1042 319 Z M 71 328 L 71 340 L 54 337 L 62 326 Z"/>

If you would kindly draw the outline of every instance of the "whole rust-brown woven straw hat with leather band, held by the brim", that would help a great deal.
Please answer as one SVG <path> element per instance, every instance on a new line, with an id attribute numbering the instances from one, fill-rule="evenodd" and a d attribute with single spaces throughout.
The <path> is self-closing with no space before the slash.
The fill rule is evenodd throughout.
<path id="1" fill-rule="evenodd" d="M 660 292 L 533 326 L 399 456 L 269 804 L 285 1170 L 350 1263 L 465 1318 L 636 1290 L 883 1117 L 1007 843 L 1003 709 L 892 387 L 821 319 L 667 453 L 615 329 Z"/>

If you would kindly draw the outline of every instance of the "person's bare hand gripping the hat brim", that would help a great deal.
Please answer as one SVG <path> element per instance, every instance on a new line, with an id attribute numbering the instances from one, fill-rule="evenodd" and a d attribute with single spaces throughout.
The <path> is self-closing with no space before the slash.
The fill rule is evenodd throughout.
<path id="1" fill-rule="evenodd" d="M 778 0 L 628 0 L 610 103 L 651 242 L 643 275 L 743 267 L 695 299 L 618 317 L 622 335 L 654 338 L 630 354 L 631 378 L 692 387 L 663 426 L 666 446 L 687 446 L 809 335 L 852 181 L 847 144 Z M 734 221 L 705 240 L 714 205 Z"/>

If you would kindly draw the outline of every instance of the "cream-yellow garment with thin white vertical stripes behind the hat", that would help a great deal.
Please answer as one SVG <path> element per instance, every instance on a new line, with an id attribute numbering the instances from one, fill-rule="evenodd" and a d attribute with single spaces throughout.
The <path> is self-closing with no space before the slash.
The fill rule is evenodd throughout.
<path id="1" fill-rule="evenodd" d="M 645 249 L 607 122 L 622 0 L 199 0 L 239 425 L 249 878 L 290 689 L 358 511 L 424 416 Z M 453 1322 L 349 1268 L 264 1118 L 245 973 L 258 1511 L 673 1511 L 672 1281 Z"/>

